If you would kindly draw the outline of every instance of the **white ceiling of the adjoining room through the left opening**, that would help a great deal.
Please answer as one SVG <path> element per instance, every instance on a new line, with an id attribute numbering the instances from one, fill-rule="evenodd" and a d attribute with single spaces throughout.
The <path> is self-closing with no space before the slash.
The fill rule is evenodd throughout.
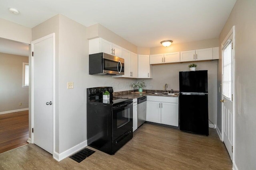
<path id="1" fill-rule="evenodd" d="M 28 45 L 0 38 L 0 53 L 28 56 Z"/>

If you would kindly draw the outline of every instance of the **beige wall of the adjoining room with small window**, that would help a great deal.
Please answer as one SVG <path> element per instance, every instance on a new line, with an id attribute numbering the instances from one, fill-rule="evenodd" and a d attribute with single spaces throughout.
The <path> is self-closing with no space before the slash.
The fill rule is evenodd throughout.
<path id="1" fill-rule="evenodd" d="M 28 56 L 0 53 L 0 112 L 28 108 L 28 88 L 22 87 L 23 63 L 28 63 Z"/>

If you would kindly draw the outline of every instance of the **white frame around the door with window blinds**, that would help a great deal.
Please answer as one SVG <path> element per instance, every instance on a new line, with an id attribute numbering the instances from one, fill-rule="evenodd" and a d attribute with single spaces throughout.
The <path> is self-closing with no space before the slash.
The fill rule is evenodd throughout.
<path id="1" fill-rule="evenodd" d="M 221 49 L 223 48 L 224 44 L 226 43 L 226 41 L 228 40 L 228 38 L 230 37 L 230 35 L 233 34 L 233 48 L 232 48 L 232 60 L 233 60 L 233 66 L 232 66 L 232 75 L 233 75 L 233 88 L 232 88 L 232 94 L 233 94 L 233 101 L 232 101 L 232 109 L 233 109 L 233 158 L 232 158 L 232 161 L 234 162 L 234 155 L 235 155 L 235 113 L 236 113 L 236 110 L 235 110 L 235 107 L 234 107 L 234 103 L 236 102 L 236 95 L 234 93 L 234 89 L 236 88 L 236 84 L 235 84 L 235 26 L 233 26 L 230 31 L 228 32 L 228 35 L 226 35 L 225 39 L 222 41 L 221 43 Z M 221 93 L 221 96 L 222 96 L 222 93 Z M 223 103 L 221 104 L 222 105 L 222 128 L 221 128 L 221 133 L 222 133 L 222 141 L 224 141 L 224 106 L 223 106 Z"/>

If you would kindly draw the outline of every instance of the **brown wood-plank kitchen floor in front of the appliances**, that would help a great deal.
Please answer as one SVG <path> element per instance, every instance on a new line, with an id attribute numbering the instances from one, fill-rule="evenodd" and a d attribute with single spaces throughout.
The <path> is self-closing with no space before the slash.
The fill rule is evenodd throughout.
<path id="1" fill-rule="evenodd" d="M 80 163 L 70 158 L 57 162 L 45 150 L 29 144 L 0 154 L 0 169 L 231 170 L 232 162 L 216 129 L 209 133 L 206 137 L 144 124 L 114 155 L 88 147 L 96 152 Z"/>

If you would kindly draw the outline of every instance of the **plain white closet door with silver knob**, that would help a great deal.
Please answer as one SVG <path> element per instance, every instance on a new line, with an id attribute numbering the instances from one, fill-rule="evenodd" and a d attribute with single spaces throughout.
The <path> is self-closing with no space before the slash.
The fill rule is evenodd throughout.
<path id="1" fill-rule="evenodd" d="M 33 143 L 53 154 L 54 35 L 32 41 Z"/>

